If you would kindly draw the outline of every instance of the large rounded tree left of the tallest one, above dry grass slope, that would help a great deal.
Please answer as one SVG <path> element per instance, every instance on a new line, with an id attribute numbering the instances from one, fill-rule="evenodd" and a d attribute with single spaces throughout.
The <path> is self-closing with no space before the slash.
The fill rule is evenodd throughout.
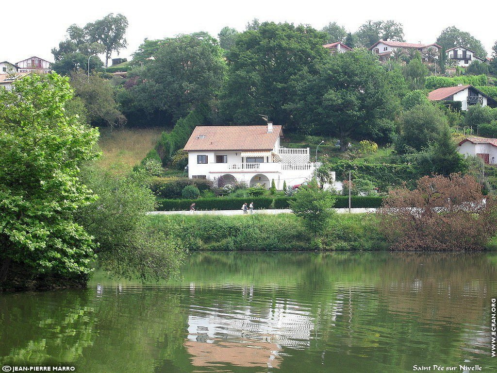
<path id="1" fill-rule="evenodd" d="M 166 112 L 174 121 L 196 107 L 214 106 L 225 74 L 216 39 L 205 33 L 182 35 L 162 42 L 129 96 L 119 98 L 127 112 Z"/>

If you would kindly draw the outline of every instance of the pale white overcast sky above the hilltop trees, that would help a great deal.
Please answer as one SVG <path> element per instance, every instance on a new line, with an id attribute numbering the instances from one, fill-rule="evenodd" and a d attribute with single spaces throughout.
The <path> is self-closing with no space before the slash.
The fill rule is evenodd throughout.
<path id="1" fill-rule="evenodd" d="M 455 25 L 480 39 L 489 56 L 497 40 L 496 0 L 26 0 L 10 4 L 3 7 L 0 22 L 0 61 L 12 63 L 31 56 L 53 61 L 50 50 L 65 39 L 69 25 L 84 26 L 108 13 L 121 13 L 128 18 L 128 48 L 119 54 L 128 59 L 144 38 L 195 31 L 207 31 L 217 37 L 224 26 L 242 31 L 253 18 L 305 23 L 318 29 L 336 21 L 352 32 L 368 19 L 394 19 L 404 25 L 406 41 L 422 43 L 434 42 L 442 29 Z"/>

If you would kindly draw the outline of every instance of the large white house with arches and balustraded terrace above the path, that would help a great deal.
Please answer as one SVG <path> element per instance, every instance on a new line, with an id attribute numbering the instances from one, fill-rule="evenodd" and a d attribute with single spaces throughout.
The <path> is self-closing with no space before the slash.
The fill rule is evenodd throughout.
<path id="1" fill-rule="evenodd" d="M 184 150 L 188 152 L 188 177 L 246 183 L 277 189 L 309 181 L 320 164 L 311 162 L 309 148 L 283 148 L 281 126 L 195 127 Z"/>

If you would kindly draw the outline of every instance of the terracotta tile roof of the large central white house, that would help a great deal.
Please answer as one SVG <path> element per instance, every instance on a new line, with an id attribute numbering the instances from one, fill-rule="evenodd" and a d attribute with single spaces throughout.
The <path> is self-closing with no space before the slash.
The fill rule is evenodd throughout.
<path id="1" fill-rule="evenodd" d="M 184 150 L 272 150 L 281 134 L 281 126 L 197 126 Z"/>

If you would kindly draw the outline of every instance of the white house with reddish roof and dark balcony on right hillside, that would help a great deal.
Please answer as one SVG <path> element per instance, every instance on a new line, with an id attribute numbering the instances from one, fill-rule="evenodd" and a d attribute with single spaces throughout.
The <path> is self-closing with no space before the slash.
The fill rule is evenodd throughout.
<path id="1" fill-rule="evenodd" d="M 497 107 L 497 101 L 473 86 L 442 87 L 428 93 L 430 101 L 461 101 L 461 110 L 468 110 L 468 107 L 475 104 L 482 106 L 489 105 Z"/>

